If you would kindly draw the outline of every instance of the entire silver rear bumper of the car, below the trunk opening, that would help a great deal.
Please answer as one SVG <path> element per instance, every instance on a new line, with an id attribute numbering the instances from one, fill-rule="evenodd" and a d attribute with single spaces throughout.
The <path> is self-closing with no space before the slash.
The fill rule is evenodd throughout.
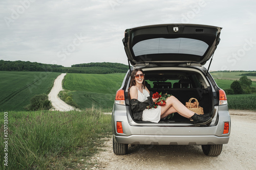
<path id="1" fill-rule="evenodd" d="M 129 108 L 115 106 L 112 113 L 113 138 L 117 143 L 159 145 L 225 144 L 231 130 L 227 106 L 217 108 L 217 114 L 209 127 L 193 124 L 138 124 L 133 121 Z M 129 111 L 129 110 L 128 110 Z M 117 133 L 116 122 L 122 123 L 123 133 Z M 224 123 L 229 123 L 229 133 L 223 134 Z"/>

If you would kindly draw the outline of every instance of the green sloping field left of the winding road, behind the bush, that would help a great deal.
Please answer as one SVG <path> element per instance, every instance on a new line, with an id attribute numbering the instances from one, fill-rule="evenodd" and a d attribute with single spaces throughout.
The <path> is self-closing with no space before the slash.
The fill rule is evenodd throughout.
<path id="1" fill-rule="evenodd" d="M 58 72 L 0 71 L 0 111 L 25 110 L 32 96 L 49 93 Z"/>

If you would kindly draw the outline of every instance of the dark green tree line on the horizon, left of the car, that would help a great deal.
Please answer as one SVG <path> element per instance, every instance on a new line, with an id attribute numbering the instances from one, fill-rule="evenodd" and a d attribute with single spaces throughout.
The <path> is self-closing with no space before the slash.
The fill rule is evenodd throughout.
<path id="1" fill-rule="evenodd" d="M 129 66 L 121 63 L 83 63 L 71 67 L 56 64 L 42 64 L 30 61 L 4 61 L 0 60 L 0 71 L 49 71 L 69 72 L 82 74 L 111 74 L 127 72 Z"/>

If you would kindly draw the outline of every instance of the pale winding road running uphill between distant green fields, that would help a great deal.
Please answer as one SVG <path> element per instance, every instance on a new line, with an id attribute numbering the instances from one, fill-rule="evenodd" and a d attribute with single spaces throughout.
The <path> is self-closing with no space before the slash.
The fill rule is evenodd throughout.
<path id="1" fill-rule="evenodd" d="M 59 99 L 58 93 L 63 90 L 62 88 L 62 80 L 66 76 L 66 73 L 60 74 L 55 80 L 52 87 L 51 92 L 48 94 L 49 100 L 52 102 L 52 106 L 54 107 L 54 110 L 58 111 L 70 111 L 75 110 L 74 107 L 68 105 L 67 103 L 63 102 Z"/>

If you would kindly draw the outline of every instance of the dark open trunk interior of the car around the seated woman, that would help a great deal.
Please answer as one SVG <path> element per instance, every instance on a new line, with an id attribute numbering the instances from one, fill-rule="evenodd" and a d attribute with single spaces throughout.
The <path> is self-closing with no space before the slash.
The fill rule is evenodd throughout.
<path id="1" fill-rule="evenodd" d="M 204 113 L 211 113 L 214 109 L 212 89 L 201 71 L 185 67 L 170 70 L 159 67 L 157 70 L 145 68 L 143 71 L 146 87 L 153 93 L 172 94 L 184 105 L 190 98 L 196 98 Z M 136 120 L 135 122 L 143 124 L 152 123 L 138 122 Z M 161 123 L 191 124 L 192 122 L 178 113 L 174 113 L 174 115 L 171 114 L 161 119 L 158 124 Z"/>

